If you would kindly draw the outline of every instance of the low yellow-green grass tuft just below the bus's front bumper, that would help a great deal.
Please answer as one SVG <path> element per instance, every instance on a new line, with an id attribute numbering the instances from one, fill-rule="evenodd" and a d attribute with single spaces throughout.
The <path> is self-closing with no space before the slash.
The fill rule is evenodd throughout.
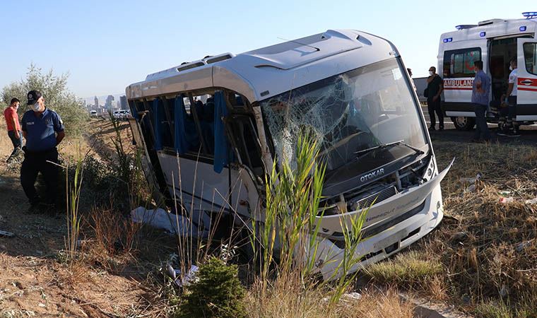
<path id="1" fill-rule="evenodd" d="M 425 260 L 418 252 L 398 254 L 395 259 L 382 261 L 365 269 L 367 274 L 381 283 L 413 285 L 424 283 L 442 272 L 442 264 Z"/>

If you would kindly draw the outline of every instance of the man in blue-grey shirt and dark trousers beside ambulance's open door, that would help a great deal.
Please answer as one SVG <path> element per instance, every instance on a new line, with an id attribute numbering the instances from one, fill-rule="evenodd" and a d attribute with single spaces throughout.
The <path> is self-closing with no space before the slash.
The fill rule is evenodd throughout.
<path id="1" fill-rule="evenodd" d="M 473 136 L 472 142 L 485 143 L 490 142 L 490 131 L 488 130 L 485 113 L 488 109 L 488 94 L 490 92 L 490 81 L 487 74 L 483 71 L 483 61 L 473 62 L 476 70 L 476 77 L 473 78 L 472 86 L 472 104 L 473 111 L 476 113 L 476 133 Z M 480 139 L 483 136 L 483 139 Z"/>

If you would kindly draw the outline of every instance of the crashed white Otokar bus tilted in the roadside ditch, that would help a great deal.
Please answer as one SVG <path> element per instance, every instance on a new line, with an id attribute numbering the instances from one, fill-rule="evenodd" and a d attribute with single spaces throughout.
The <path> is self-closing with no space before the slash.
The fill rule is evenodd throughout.
<path id="1" fill-rule="evenodd" d="M 326 165 L 316 262 L 324 278 L 343 257 L 340 222 L 363 207 L 357 266 L 442 220 L 439 183 L 449 167 L 439 172 L 411 78 L 381 37 L 327 30 L 205 57 L 152 73 L 126 96 L 148 182 L 202 213 L 201 222 L 223 211 L 262 226 L 265 177 L 283 158 L 293 164 L 297 131 L 309 127 Z"/>

